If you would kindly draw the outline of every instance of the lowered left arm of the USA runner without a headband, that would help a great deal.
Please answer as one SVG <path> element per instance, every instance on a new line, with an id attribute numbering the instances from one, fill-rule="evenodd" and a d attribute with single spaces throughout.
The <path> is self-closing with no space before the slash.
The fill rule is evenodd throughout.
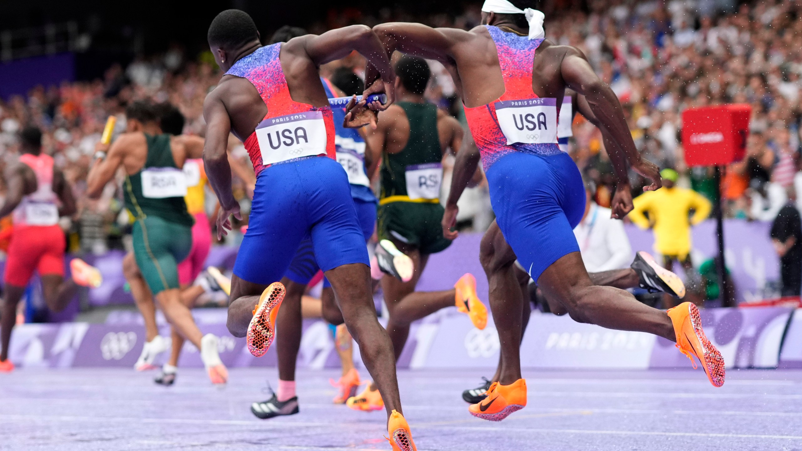
<path id="1" fill-rule="evenodd" d="M 219 89 L 219 87 L 218 87 Z M 229 133 L 231 120 L 219 95 L 212 91 L 206 96 L 203 104 L 203 116 L 206 120 L 206 141 L 203 150 L 203 163 L 209 185 L 212 185 L 217 200 L 220 201 L 220 213 L 217 214 L 217 238 L 222 238 L 231 230 L 230 215 L 242 219 L 240 205 L 231 191 L 231 166 L 229 165 Z"/>

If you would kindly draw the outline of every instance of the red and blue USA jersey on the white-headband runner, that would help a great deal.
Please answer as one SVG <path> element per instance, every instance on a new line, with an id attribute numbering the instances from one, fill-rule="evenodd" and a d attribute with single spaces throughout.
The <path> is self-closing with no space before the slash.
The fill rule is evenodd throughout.
<path id="1" fill-rule="evenodd" d="M 557 145 L 556 100 L 539 99 L 532 89 L 535 51 L 543 39 L 529 39 L 527 36 L 505 33 L 496 26 L 488 25 L 487 28 L 493 43 L 496 43 L 501 75 L 504 79 L 504 94 L 496 102 L 474 108 L 465 107 L 468 128 L 471 130 L 476 147 L 480 150 L 484 170 L 487 171 L 493 163 L 511 152 L 536 155 L 560 153 Z M 520 124 L 517 121 L 519 118 L 514 115 L 509 116 L 509 126 L 518 127 L 524 134 L 529 133 L 530 140 L 537 142 L 516 142 L 511 139 L 509 134 L 505 136 L 502 131 L 503 124 L 499 122 L 496 108 L 515 108 L 522 103 L 526 103 L 528 106 L 535 105 L 535 108 L 549 109 L 548 112 L 540 114 L 535 112 L 534 116 L 520 115 Z M 542 120 L 539 117 L 541 115 L 543 116 Z M 532 116 L 531 120 L 528 116 Z M 548 116 L 548 120 L 546 116 Z M 546 131 L 547 125 L 553 130 Z M 553 142 L 551 142 L 552 135 Z"/>

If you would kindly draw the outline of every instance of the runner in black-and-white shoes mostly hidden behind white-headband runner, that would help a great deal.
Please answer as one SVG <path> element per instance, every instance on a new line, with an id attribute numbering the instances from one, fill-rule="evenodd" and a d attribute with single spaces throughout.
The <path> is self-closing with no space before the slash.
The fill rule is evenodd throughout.
<path id="1" fill-rule="evenodd" d="M 574 116 L 573 112 L 580 113 L 582 116 L 585 116 L 591 124 L 600 127 L 599 121 L 596 116 L 593 116 L 593 112 L 590 110 L 585 97 L 567 90 L 560 109 L 559 123 L 557 124 L 557 139 L 560 141 L 560 148 L 563 152 L 568 152 L 568 140 L 570 136 L 573 136 L 573 130 L 571 129 Z M 618 174 L 619 178 L 613 201 L 615 211 L 610 211 L 610 216 L 620 218 L 625 216 L 626 213 L 633 208 L 629 180 L 626 178 L 626 156 L 622 149 L 619 148 L 618 144 L 610 139 L 610 136 L 608 136 L 603 129 L 602 137 L 605 142 L 606 151 L 608 155 L 610 155 L 610 160 L 614 164 L 615 172 Z M 470 150 L 476 152 L 475 148 L 471 148 Z M 634 163 L 637 164 L 637 161 Z M 653 171 L 656 172 L 657 168 L 655 167 Z M 582 221 L 585 221 L 585 217 L 588 215 L 592 206 L 591 196 L 592 192 L 589 186 L 585 185 L 585 214 L 582 217 Z M 596 207 L 594 212 L 596 212 L 597 209 L 601 209 L 601 207 Z M 606 214 L 607 212 L 608 209 L 603 209 L 602 214 Z M 594 219 L 591 220 L 591 223 L 593 222 L 595 222 Z M 589 230 L 593 230 L 592 225 L 589 227 Z M 576 234 L 576 230 L 574 230 L 574 234 Z M 523 333 L 526 331 L 526 326 L 529 323 L 529 317 L 532 313 L 529 307 L 529 281 L 531 279 L 529 278 L 529 274 L 526 273 L 526 270 L 521 269 L 520 263 L 517 263 L 515 253 L 504 239 L 504 235 L 501 234 L 501 230 L 496 221 L 492 222 L 487 232 L 485 232 L 484 237 L 482 237 L 479 259 L 482 263 L 484 273 L 487 275 L 488 285 L 491 286 L 490 305 L 496 305 L 496 311 L 501 311 L 503 309 L 504 311 L 512 312 L 516 305 L 520 305 L 522 308 L 523 315 L 521 317 L 520 336 L 523 338 Z M 645 252 L 639 252 L 635 256 L 635 260 L 630 268 L 589 273 L 588 275 L 593 285 L 614 286 L 622 290 L 641 286 L 649 291 L 663 291 L 668 295 L 677 296 L 678 298 L 683 298 L 685 295 L 683 281 L 678 278 L 676 274 L 658 266 L 657 263 L 654 262 L 654 259 Z M 516 290 L 513 283 L 507 283 L 507 281 L 512 280 L 516 280 L 519 283 L 520 290 Z M 558 301 L 546 299 L 546 302 L 548 303 L 546 307 L 555 315 L 565 315 L 565 313 L 568 312 Z M 506 310 L 507 308 L 509 308 L 509 310 Z M 510 346 L 511 343 L 503 341 L 501 345 Z M 484 384 L 477 388 L 465 390 L 462 393 L 463 399 L 468 402 L 468 404 L 477 404 L 484 400 L 484 398 L 487 397 L 485 393 L 490 388 L 490 385 L 499 380 L 502 371 L 501 368 L 503 368 L 503 366 L 503 354 L 500 353 L 499 364 L 492 379 L 488 380 L 484 378 Z"/>

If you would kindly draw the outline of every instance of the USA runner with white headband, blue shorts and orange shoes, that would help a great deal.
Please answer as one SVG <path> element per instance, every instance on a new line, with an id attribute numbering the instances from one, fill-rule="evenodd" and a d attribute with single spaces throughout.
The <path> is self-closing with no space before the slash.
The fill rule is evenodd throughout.
<path id="1" fill-rule="evenodd" d="M 593 286 L 585 271 L 572 231 L 584 212 L 585 192 L 576 165 L 557 146 L 557 107 L 565 88 L 585 95 L 602 129 L 627 155 L 637 150 L 618 99 L 581 51 L 544 39 L 544 15 L 528 7 L 536 3 L 488 0 L 482 7 L 487 25 L 470 31 L 400 22 L 374 30 L 388 53 L 399 50 L 438 59 L 451 71 L 480 150 L 499 228 L 545 295 L 562 303 L 579 322 L 677 341 L 680 351 L 701 360 L 711 383 L 721 386 L 723 359 L 704 335 L 693 304 L 680 304 L 666 314 L 638 303 L 626 291 Z M 371 81 L 376 74 L 368 70 Z M 456 161 L 443 219 L 449 238 L 456 235 L 451 230 L 456 201 L 478 160 L 465 156 Z M 656 178 L 652 168 L 633 169 Z M 659 179 L 649 189 L 658 187 Z M 516 289 L 514 280 L 508 283 Z M 486 400 L 471 405 L 475 416 L 499 421 L 526 405 L 526 384 L 520 379 L 520 318 L 520 310 L 493 313 L 496 329 L 509 335 L 502 339 L 511 346 L 503 350 L 499 382 L 492 384 Z"/>

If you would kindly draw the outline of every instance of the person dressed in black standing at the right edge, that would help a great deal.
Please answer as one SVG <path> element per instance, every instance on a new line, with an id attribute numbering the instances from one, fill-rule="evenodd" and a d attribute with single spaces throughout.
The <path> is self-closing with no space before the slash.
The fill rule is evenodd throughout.
<path id="1" fill-rule="evenodd" d="M 788 189 L 788 202 L 772 223 L 772 244 L 780 257 L 783 296 L 799 296 L 802 289 L 802 218 L 796 209 L 796 192 Z"/>

